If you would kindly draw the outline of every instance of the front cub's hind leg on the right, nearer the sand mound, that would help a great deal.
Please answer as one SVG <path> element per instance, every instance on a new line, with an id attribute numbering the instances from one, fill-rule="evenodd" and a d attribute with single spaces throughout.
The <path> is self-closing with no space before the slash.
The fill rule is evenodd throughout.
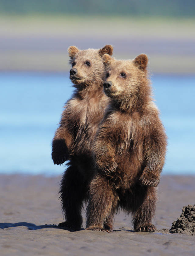
<path id="1" fill-rule="evenodd" d="M 152 218 L 156 208 L 156 188 L 138 185 L 133 194 L 135 195 L 132 204 L 134 231 L 154 232 L 156 227 L 152 224 Z"/>

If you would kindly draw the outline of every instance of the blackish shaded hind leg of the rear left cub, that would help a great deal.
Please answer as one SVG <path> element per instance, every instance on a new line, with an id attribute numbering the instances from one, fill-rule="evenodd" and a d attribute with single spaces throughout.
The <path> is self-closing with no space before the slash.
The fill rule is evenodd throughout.
<path id="1" fill-rule="evenodd" d="M 84 182 L 83 176 L 75 166 L 71 165 L 65 171 L 59 193 L 62 203 L 62 212 L 66 220 L 60 223 L 59 226 L 79 230 L 83 223 L 81 210 L 83 201 L 87 195 L 87 184 Z"/>

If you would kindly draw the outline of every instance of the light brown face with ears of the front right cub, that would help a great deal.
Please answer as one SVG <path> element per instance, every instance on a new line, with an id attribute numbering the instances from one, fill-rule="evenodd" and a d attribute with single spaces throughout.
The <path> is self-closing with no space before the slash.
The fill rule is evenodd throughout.
<path id="1" fill-rule="evenodd" d="M 104 83 L 105 94 L 114 99 L 129 100 L 140 95 L 140 87 L 145 77 L 147 56 L 139 55 L 134 60 L 115 60 L 108 54 L 103 55 L 107 73 Z"/>

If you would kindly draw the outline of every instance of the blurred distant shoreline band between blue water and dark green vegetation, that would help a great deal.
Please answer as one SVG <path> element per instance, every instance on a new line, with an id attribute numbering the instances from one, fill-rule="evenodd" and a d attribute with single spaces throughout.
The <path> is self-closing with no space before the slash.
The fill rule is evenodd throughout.
<path id="1" fill-rule="evenodd" d="M 108 43 L 114 46 L 118 59 L 147 54 L 152 73 L 193 74 L 194 21 L 170 17 L 2 15 L 0 71 L 66 72 L 70 45 L 97 49 Z"/>

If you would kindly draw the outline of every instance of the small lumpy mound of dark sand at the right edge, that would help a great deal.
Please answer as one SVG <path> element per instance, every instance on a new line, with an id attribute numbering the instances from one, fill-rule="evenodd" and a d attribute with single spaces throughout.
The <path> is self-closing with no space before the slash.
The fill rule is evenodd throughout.
<path id="1" fill-rule="evenodd" d="M 195 205 L 182 208 L 182 214 L 172 223 L 170 233 L 184 233 L 195 235 Z"/>

